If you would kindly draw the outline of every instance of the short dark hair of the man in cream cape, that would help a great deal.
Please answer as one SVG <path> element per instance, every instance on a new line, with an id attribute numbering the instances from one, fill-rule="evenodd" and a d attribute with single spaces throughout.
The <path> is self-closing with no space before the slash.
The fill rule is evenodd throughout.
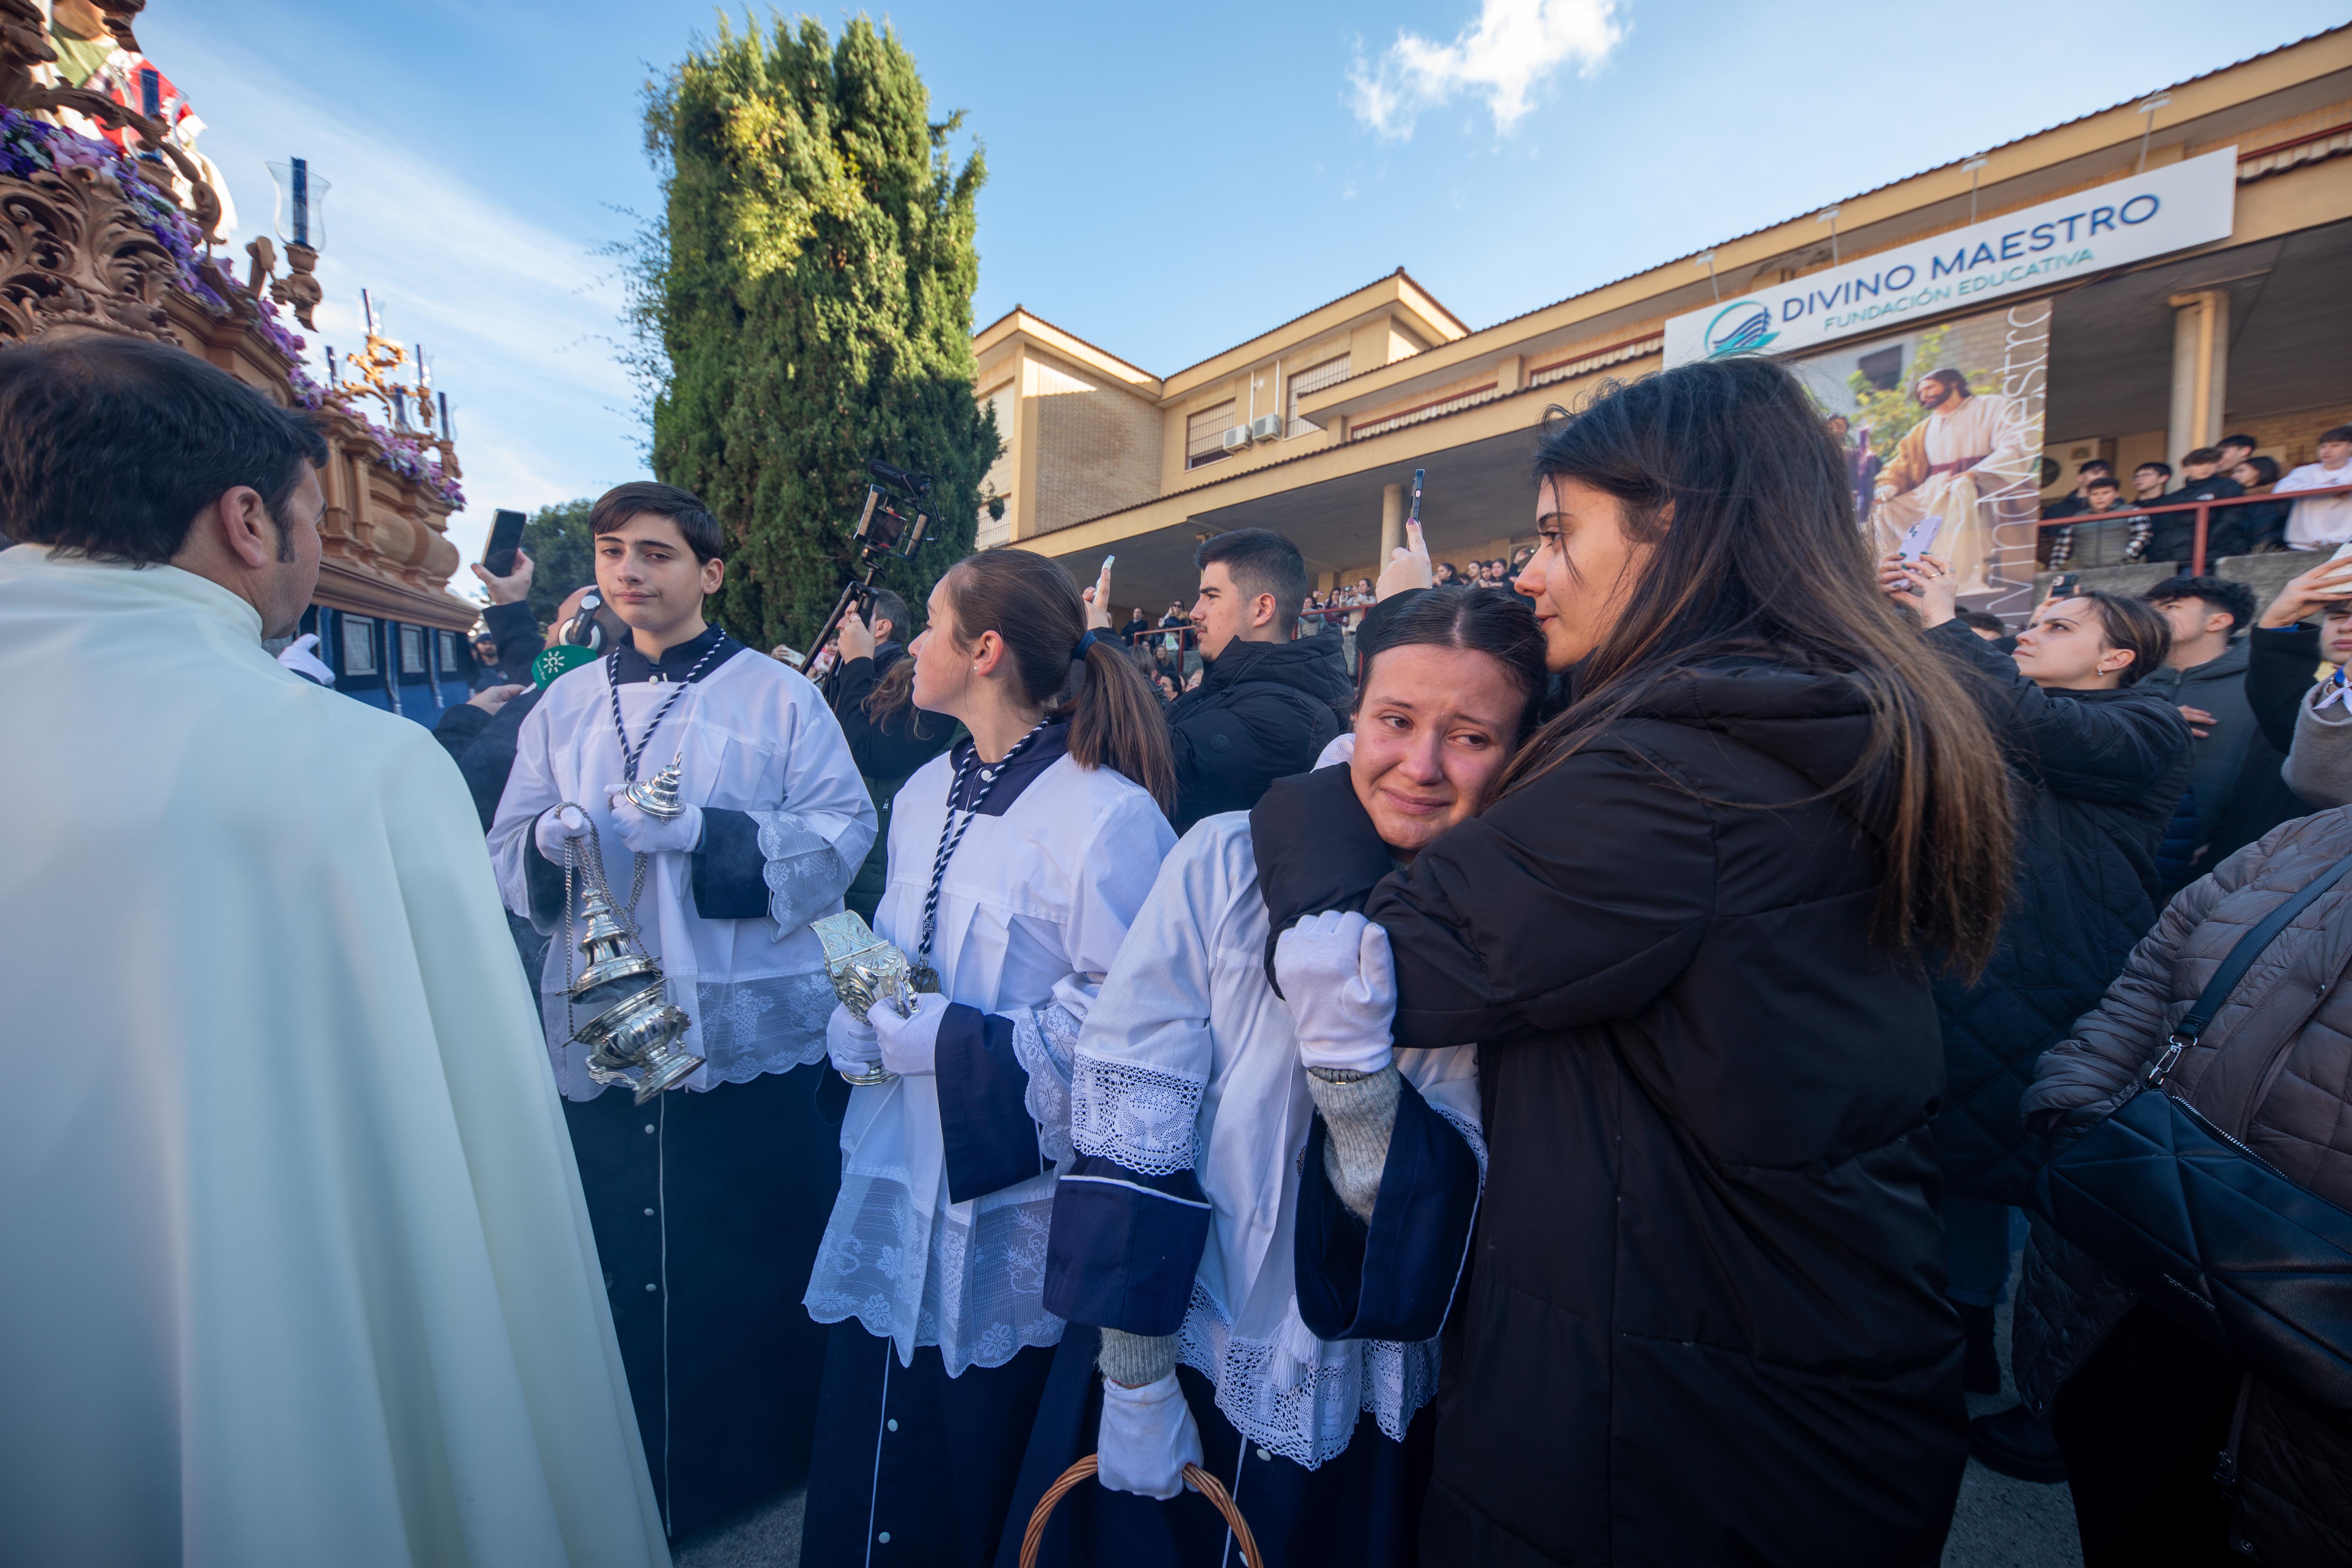
<path id="1" fill-rule="evenodd" d="M 327 440 L 183 348 L 101 334 L 0 353 L 0 538 L 146 567 L 245 484 L 278 522 Z"/>

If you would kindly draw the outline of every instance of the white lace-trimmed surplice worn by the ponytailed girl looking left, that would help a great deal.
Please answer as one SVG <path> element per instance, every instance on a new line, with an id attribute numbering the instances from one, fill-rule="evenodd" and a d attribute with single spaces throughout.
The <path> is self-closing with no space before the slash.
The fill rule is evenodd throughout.
<path id="1" fill-rule="evenodd" d="M 910 954 L 922 945 L 960 750 L 927 762 L 891 804 L 875 933 Z M 931 964 L 950 1001 L 1011 1018 L 1040 1154 L 1063 1164 L 1070 1046 L 1176 835 L 1141 785 L 1068 755 L 1002 811 L 974 816 L 948 863 Z M 1063 1321 L 1044 1309 L 1054 1180 L 1049 1171 L 950 1204 L 938 1079 L 856 1088 L 809 1316 L 858 1319 L 896 1342 L 901 1363 L 917 1345 L 936 1345 L 950 1378 L 1061 1342 Z"/>

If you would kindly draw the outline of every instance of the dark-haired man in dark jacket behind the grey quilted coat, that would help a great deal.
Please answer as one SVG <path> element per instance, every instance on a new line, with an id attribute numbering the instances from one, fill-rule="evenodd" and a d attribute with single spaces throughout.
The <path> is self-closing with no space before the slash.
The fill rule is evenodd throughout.
<path id="1" fill-rule="evenodd" d="M 2253 590 L 2218 576 L 2164 578 L 2140 595 L 2173 628 L 2164 665 L 2143 689 L 2161 691 L 2190 724 L 2190 788 L 2157 849 L 2171 889 L 2185 886 L 2279 823 L 2305 816 L 2279 780 L 2279 752 L 2246 693 Z"/>

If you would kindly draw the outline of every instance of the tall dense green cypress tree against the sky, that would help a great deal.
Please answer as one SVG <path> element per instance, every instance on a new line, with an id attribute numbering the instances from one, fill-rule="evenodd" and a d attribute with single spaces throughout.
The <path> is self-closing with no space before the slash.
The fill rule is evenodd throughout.
<path id="1" fill-rule="evenodd" d="M 858 16 L 774 16 L 647 89 L 663 214 L 635 268 L 654 473 L 731 555 L 717 618 L 807 646 L 840 592 L 866 458 L 934 475 L 931 538 L 877 578 L 910 604 L 971 550 L 995 416 L 974 397 L 978 150 L 929 118 L 915 61 Z"/>

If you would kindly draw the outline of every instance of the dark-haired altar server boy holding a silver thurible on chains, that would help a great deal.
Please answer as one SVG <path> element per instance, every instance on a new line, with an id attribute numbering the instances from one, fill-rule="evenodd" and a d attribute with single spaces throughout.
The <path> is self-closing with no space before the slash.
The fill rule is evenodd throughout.
<path id="1" fill-rule="evenodd" d="M 823 1331 L 800 1295 L 840 1185 L 816 1112 L 835 999 L 809 922 L 842 907 L 875 809 L 816 686 L 703 618 L 727 536 L 691 491 L 621 484 L 588 529 L 628 637 L 522 722 L 489 851 L 508 907 L 555 938 L 546 1048 L 654 1490 L 682 1535 L 807 1472 Z M 647 1105 L 574 1034 L 597 858 L 616 896 L 640 889 L 630 919 L 691 1020 L 680 1051 L 703 1063 Z"/>

